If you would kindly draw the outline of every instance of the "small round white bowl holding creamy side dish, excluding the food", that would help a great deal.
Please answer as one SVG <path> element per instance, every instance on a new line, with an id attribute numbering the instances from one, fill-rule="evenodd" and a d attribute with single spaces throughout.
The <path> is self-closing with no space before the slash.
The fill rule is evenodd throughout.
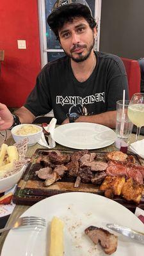
<path id="1" fill-rule="evenodd" d="M 35 124 L 31 124 L 33 127 L 38 127 L 38 129 L 40 129 L 40 131 L 31 133 L 31 134 L 27 134 L 27 135 L 15 134 L 15 132 L 17 132 L 21 127 L 23 127 L 25 125 L 29 125 L 29 124 L 19 124 L 19 125 L 13 127 L 13 129 L 12 129 L 13 140 L 15 142 L 19 142 L 20 140 L 23 140 L 24 138 L 28 138 L 28 140 L 29 140 L 28 146 L 35 145 L 40 140 L 40 138 L 42 136 L 42 127 L 35 125 Z"/>

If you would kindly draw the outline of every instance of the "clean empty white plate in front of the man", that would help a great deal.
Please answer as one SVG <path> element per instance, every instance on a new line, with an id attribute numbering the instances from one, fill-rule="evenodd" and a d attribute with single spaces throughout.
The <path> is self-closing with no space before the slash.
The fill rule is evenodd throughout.
<path id="1" fill-rule="evenodd" d="M 92 123 L 60 125 L 54 130 L 54 140 L 69 148 L 96 149 L 111 145 L 116 134 L 110 128 Z"/>

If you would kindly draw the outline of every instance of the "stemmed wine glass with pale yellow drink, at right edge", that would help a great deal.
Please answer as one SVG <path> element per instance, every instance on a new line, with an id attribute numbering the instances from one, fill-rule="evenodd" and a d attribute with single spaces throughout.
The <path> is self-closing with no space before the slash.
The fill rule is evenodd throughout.
<path id="1" fill-rule="evenodd" d="M 144 93 L 134 93 L 129 102 L 127 115 L 131 122 L 137 127 L 137 141 L 140 135 L 140 129 L 144 125 Z"/>

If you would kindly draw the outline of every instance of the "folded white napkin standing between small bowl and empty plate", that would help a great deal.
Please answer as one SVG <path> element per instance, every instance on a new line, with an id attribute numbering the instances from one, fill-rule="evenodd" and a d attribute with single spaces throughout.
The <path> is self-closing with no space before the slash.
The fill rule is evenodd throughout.
<path id="1" fill-rule="evenodd" d="M 54 141 L 54 129 L 56 126 L 56 118 L 52 118 L 51 122 L 45 126 L 45 130 L 50 132 L 50 135 L 48 136 L 49 139 L 49 145 L 47 144 L 47 141 L 45 140 L 44 132 L 42 132 L 42 136 L 40 140 L 38 141 L 38 144 L 47 147 L 47 148 L 54 148 L 56 147 L 56 142 Z"/>

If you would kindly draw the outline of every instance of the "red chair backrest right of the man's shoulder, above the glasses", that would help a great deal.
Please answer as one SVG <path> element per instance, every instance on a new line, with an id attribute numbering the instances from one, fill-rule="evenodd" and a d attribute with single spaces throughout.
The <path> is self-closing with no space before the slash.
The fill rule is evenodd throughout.
<path id="1" fill-rule="evenodd" d="M 121 58 L 121 59 L 124 62 L 125 69 L 127 72 L 127 80 L 129 84 L 129 99 L 131 99 L 134 93 L 140 92 L 140 81 L 141 81 L 140 65 L 136 60 L 131 60 L 127 58 Z"/>

